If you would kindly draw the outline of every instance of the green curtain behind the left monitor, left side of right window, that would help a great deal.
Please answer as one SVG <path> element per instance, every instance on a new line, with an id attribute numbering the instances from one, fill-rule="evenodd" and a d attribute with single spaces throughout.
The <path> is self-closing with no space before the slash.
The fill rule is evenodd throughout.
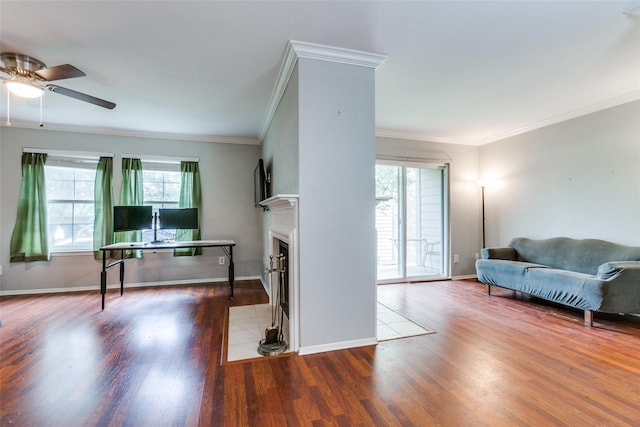
<path id="1" fill-rule="evenodd" d="M 122 183 L 120 185 L 121 206 L 142 206 L 142 161 L 140 159 L 122 159 Z M 119 231 L 115 234 L 115 242 L 139 242 L 141 231 Z M 125 258 L 142 258 L 142 251 L 125 252 Z"/>

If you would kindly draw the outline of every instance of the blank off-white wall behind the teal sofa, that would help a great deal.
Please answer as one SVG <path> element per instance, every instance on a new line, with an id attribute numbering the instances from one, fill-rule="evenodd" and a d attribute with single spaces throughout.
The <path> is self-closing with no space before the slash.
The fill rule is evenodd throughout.
<path id="1" fill-rule="evenodd" d="M 487 245 L 516 236 L 640 245 L 640 101 L 480 148 Z"/>

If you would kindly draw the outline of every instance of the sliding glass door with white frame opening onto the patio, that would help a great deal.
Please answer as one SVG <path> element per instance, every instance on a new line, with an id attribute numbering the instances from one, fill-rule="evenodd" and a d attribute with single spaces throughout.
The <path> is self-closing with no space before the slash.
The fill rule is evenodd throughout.
<path id="1" fill-rule="evenodd" d="M 379 282 L 447 276 L 446 167 L 378 163 Z"/>

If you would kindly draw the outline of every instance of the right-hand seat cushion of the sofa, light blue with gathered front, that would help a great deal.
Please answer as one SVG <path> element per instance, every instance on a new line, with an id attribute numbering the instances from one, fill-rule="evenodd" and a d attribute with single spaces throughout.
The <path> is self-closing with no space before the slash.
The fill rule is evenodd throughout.
<path id="1" fill-rule="evenodd" d="M 606 292 L 605 281 L 590 274 L 554 268 L 529 269 L 522 292 L 581 310 L 598 310 Z"/>

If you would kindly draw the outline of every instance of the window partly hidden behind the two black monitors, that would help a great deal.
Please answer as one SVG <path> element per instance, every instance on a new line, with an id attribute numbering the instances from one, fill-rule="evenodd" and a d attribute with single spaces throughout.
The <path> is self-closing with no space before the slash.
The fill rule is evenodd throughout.
<path id="1" fill-rule="evenodd" d="M 180 163 L 142 162 L 142 191 L 145 205 L 153 207 L 154 215 L 161 208 L 177 208 L 180 202 Z M 156 225 L 157 226 L 157 225 Z M 143 241 L 175 239 L 175 230 L 153 230 L 142 232 Z"/>

